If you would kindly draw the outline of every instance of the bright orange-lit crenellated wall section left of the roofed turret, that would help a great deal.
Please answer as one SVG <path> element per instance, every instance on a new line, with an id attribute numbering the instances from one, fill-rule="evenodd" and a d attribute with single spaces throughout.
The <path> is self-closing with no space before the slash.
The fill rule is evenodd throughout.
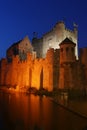
<path id="1" fill-rule="evenodd" d="M 27 54 L 27 60 L 25 61 L 20 61 L 18 55 L 12 57 L 11 63 L 3 59 L 0 69 L 0 85 L 13 86 L 17 87 L 17 89 L 28 89 L 29 87 L 35 87 L 36 89 L 44 88 L 52 91 L 54 87 L 55 53 L 58 53 L 57 50 L 54 51 L 51 48 L 48 50 L 45 59 L 33 59 L 33 55 L 30 53 Z M 58 74 L 56 78 L 58 79 Z M 58 81 L 56 84 L 56 87 L 58 87 Z"/>

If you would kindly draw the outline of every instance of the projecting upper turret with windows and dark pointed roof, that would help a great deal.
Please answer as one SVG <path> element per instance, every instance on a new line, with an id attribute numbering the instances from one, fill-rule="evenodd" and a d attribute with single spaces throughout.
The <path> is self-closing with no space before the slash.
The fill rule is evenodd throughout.
<path id="1" fill-rule="evenodd" d="M 73 43 L 71 40 L 66 38 L 60 44 L 60 64 L 62 63 L 70 63 L 75 62 L 75 46 L 76 44 Z"/>

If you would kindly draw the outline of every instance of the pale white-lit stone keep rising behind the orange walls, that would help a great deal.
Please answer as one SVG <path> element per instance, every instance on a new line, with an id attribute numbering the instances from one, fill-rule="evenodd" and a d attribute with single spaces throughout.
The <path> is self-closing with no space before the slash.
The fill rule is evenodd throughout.
<path id="1" fill-rule="evenodd" d="M 76 43 L 75 55 L 78 59 L 78 30 L 74 26 L 73 30 L 67 29 L 64 22 L 58 22 L 51 31 L 47 32 L 42 38 L 35 36 L 32 40 L 34 50 L 37 52 L 37 57 L 45 57 L 49 48 L 58 49 L 59 44 L 65 39 L 69 38 L 71 41 Z"/>

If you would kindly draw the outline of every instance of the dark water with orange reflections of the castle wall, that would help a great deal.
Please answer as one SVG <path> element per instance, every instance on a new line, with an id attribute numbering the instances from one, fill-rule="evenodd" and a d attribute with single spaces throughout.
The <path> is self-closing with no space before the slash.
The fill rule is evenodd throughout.
<path id="1" fill-rule="evenodd" d="M 0 130 L 82 130 L 87 120 L 46 97 L 0 92 Z"/>

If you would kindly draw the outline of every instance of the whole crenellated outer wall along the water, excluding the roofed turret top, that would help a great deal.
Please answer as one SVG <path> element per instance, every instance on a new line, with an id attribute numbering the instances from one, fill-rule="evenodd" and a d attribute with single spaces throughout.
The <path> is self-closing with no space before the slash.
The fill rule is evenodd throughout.
<path id="1" fill-rule="evenodd" d="M 64 46 L 65 47 L 65 46 Z M 46 58 L 33 58 L 28 53 L 25 61 L 13 56 L 12 62 L 1 60 L 0 85 L 13 86 L 18 90 L 35 87 L 36 89 L 82 89 L 87 88 L 86 66 L 82 61 L 60 62 L 60 49 L 50 48 Z"/>

